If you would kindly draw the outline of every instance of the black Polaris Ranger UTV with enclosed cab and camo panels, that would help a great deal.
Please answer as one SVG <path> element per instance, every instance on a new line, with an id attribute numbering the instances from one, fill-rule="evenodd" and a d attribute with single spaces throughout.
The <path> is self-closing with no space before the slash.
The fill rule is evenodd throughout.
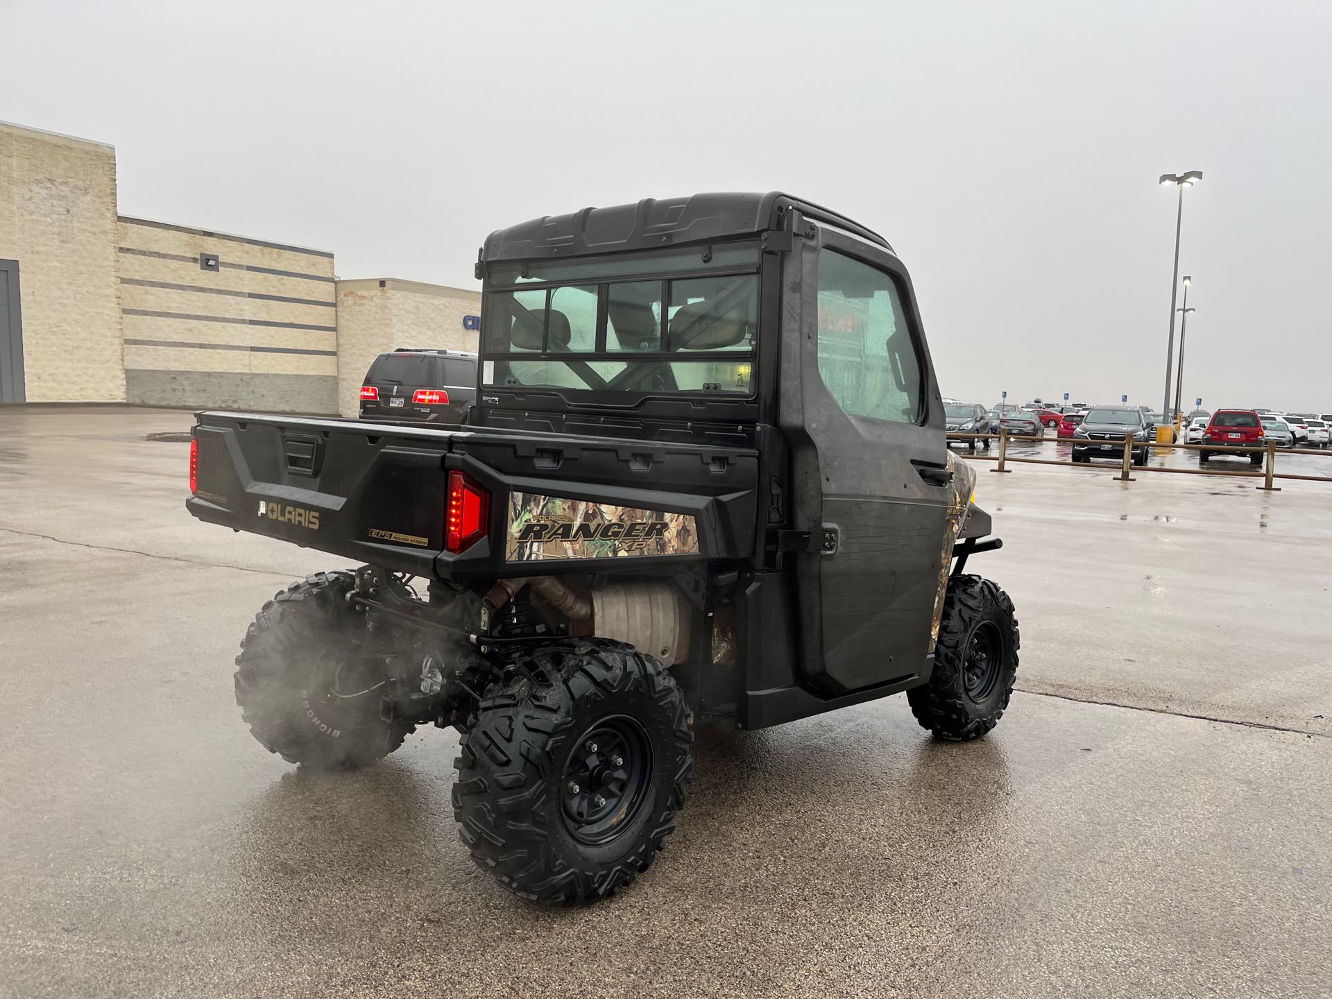
<path id="1" fill-rule="evenodd" d="M 264 746 L 352 767 L 453 726 L 473 858 L 575 902 L 653 862 L 695 718 L 906 691 L 940 739 L 994 727 L 1018 623 L 963 569 L 1000 542 L 880 236 L 697 194 L 501 229 L 477 277 L 465 426 L 197 416 L 193 515 L 364 563 L 250 625 L 236 699 Z"/>

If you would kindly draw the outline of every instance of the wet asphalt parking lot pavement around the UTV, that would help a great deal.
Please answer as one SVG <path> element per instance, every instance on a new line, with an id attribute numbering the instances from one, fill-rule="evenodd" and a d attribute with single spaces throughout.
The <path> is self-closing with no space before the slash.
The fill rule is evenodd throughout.
<path id="1" fill-rule="evenodd" d="M 0 410 L 0 996 L 1332 994 L 1332 485 L 980 464 L 999 727 L 705 730 L 647 875 L 545 910 L 458 843 L 452 733 L 249 737 L 245 625 L 342 562 L 189 518 L 189 424 Z"/>

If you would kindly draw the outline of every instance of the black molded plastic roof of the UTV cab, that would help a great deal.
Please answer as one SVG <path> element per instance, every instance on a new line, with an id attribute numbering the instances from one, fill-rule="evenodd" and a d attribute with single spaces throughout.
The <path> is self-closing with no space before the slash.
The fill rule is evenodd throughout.
<path id="1" fill-rule="evenodd" d="M 767 194 L 645 198 L 633 205 L 542 216 L 507 229 L 496 229 L 481 248 L 481 260 L 579 257 L 734 238 L 781 229 L 783 216 L 791 208 L 806 218 L 834 225 L 892 250 L 876 232 L 813 201 L 773 190 Z"/>

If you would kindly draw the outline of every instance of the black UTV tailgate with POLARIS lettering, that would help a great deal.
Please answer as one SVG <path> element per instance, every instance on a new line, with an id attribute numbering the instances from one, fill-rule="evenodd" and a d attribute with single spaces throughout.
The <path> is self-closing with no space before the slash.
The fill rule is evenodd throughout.
<path id="1" fill-rule="evenodd" d="M 200 413 L 189 511 L 361 562 L 432 575 L 452 430 Z"/>

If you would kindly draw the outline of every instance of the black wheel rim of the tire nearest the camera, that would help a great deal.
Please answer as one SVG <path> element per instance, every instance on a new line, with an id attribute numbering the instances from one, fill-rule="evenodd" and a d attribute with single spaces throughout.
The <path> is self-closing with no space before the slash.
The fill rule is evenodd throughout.
<path id="1" fill-rule="evenodd" d="M 651 775 L 653 747 L 643 726 L 629 715 L 597 719 L 565 763 L 565 827 L 583 843 L 610 842 L 633 826 Z"/>

